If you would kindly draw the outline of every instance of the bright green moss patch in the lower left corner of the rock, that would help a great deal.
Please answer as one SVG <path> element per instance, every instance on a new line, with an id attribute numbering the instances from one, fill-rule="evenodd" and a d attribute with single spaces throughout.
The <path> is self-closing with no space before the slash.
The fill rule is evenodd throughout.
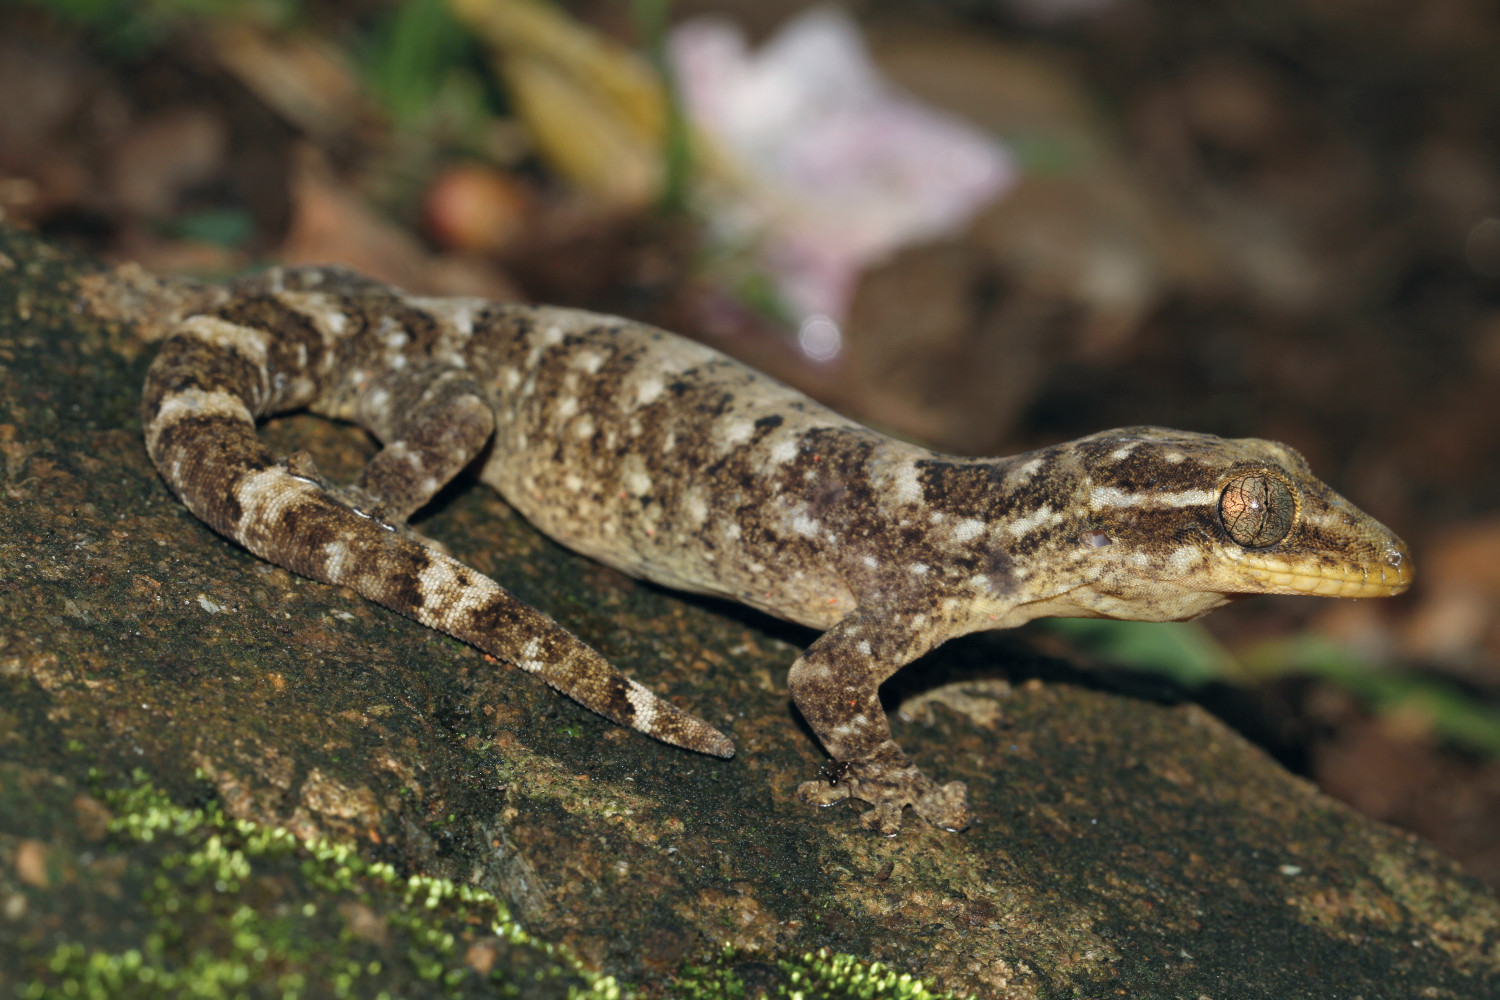
<path id="1" fill-rule="evenodd" d="M 20 996 L 621 996 L 483 889 L 402 877 L 351 844 L 304 843 L 216 802 L 178 805 L 140 774 L 102 798 L 106 844 L 136 883 L 105 895 L 120 903 L 112 922 L 138 933 L 22 954 Z"/>

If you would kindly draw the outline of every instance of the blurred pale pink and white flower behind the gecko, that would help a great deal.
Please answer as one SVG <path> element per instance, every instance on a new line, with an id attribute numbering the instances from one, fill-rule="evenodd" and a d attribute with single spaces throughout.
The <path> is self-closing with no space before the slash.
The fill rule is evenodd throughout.
<path id="1" fill-rule="evenodd" d="M 996 139 L 896 91 L 843 12 L 801 13 L 756 54 L 732 22 L 694 18 L 670 54 L 688 117 L 734 159 L 710 219 L 758 244 L 804 331 L 814 321 L 804 349 L 819 360 L 837 354 L 824 321 L 843 321 L 861 270 L 962 229 L 1014 181 Z"/>

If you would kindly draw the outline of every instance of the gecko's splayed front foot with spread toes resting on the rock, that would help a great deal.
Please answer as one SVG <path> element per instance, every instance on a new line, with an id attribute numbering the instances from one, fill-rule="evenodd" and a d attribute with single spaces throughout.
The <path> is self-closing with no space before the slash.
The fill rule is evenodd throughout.
<path id="1" fill-rule="evenodd" d="M 796 798 L 807 805 L 868 802 L 874 808 L 860 816 L 860 825 L 885 837 L 902 829 L 902 810 L 908 805 L 946 831 L 966 829 L 970 819 L 969 793 L 962 781 L 938 784 L 910 762 L 842 762 L 832 775 L 798 786 Z"/>

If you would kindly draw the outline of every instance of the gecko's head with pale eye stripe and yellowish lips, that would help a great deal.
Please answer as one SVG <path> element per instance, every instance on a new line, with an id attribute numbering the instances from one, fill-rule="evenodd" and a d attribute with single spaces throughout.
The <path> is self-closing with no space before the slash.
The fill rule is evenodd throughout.
<path id="1" fill-rule="evenodd" d="M 1102 586 L 1188 618 L 1232 594 L 1390 597 L 1412 583 L 1406 543 L 1257 438 L 1126 427 L 1077 442 L 1088 510 L 1078 546 Z M 1178 607 L 1182 613 L 1173 615 Z"/>

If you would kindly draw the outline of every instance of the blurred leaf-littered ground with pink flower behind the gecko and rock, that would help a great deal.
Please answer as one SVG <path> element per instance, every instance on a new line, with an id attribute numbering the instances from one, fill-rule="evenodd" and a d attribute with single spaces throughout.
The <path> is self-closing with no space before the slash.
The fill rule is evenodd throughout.
<path id="1" fill-rule="evenodd" d="M 1500 886 L 1488 0 L 8 0 L 0 219 L 615 312 L 890 433 L 1276 438 L 1392 601 L 1030 628 Z"/>

